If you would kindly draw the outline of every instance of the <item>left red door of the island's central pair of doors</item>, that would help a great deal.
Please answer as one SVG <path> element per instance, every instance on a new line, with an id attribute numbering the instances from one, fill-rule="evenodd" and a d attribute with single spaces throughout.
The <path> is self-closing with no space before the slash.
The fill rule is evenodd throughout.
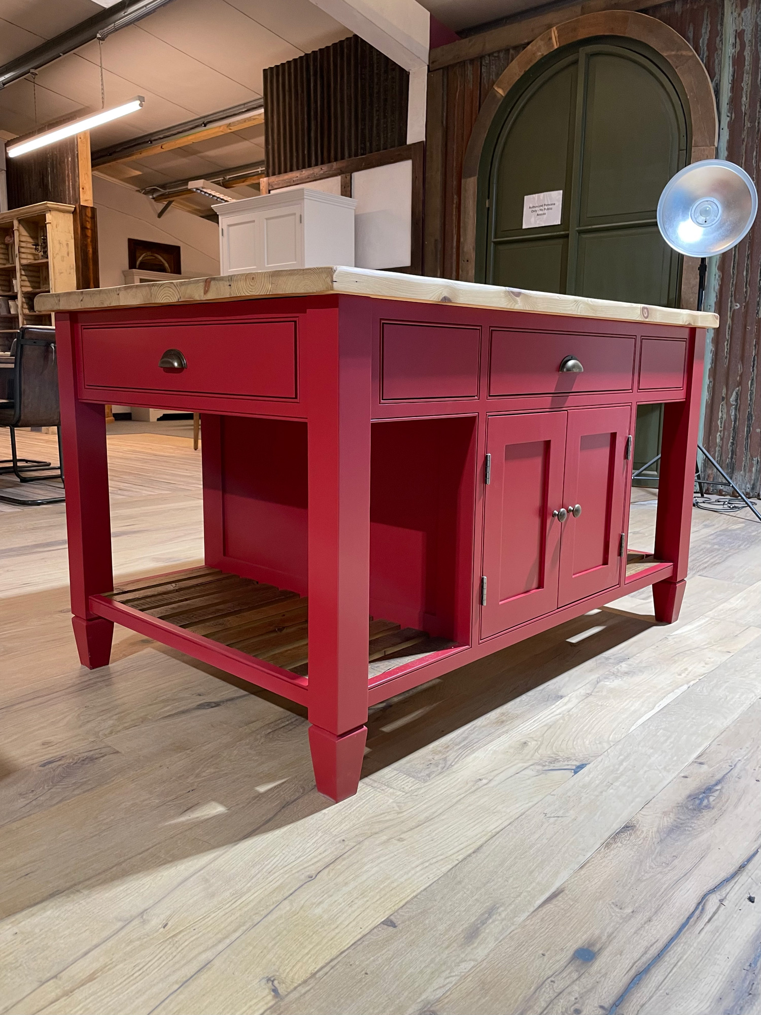
<path id="1" fill-rule="evenodd" d="M 567 413 L 490 416 L 486 452 L 481 636 L 557 607 Z"/>

